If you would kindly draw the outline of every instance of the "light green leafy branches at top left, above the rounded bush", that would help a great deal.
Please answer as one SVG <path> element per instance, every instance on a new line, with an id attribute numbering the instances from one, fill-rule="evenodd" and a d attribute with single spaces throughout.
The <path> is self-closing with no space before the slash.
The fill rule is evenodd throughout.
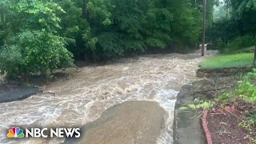
<path id="1" fill-rule="evenodd" d="M 55 32 L 56 28 L 61 28 L 56 13 L 62 12 L 62 7 L 54 2 L 40 0 L 20 0 L 11 5 L 14 11 L 15 23 L 19 24 L 20 29 L 40 30 L 46 29 Z"/>

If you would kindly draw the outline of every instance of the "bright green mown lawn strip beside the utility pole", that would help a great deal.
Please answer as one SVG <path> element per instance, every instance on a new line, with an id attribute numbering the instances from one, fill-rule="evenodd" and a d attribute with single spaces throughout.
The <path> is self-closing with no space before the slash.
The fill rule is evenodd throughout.
<path id="1" fill-rule="evenodd" d="M 254 54 L 227 54 L 216 55 L 199 63 L 202 69 L 215 69 L 215 68 L 227 68 L 227 67 L 242 67 L 250 66 L 254 61 Z"/>

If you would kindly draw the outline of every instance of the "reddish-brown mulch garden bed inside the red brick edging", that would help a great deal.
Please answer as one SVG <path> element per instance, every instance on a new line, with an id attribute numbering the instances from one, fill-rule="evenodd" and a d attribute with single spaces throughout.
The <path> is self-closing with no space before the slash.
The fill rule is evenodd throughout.
<path id="1" fill-rule="evenodd" d="M 236 115 L 236 116 L 234 116 Z M 256 130 L 248 131 L 242 128 L 242 120 L 246 118 L 238 110 L 232 114 L 225 110 L 210 110 L 206 121 L 214 144 L 250 144 L 250 138 L 256 138 Z"/>

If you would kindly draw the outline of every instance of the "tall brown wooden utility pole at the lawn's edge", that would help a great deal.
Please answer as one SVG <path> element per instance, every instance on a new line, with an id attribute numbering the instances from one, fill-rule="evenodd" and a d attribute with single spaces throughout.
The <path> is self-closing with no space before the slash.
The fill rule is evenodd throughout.
<path id="1" fill-rule="evenodd" d="M 203 2 L 203 14 L 202 14 L 202 56 L 205 55 L 205 43 L 206 43 L 206 0 Z"/>

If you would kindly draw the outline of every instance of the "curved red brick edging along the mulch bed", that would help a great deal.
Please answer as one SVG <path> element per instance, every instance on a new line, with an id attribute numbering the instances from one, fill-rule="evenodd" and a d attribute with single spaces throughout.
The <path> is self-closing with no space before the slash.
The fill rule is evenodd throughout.
<path id="1" fill-rule="evenodd" d="M 210 130 L 208 129 L 208 124 L 207 124 L 208 113 L 209 113 L 208 110 L 204 110 L 204 114 L 202 116 L 202 129 L 203 129 L 203 132 L 206 136 L 207 144 L 213 144 L 213 140 L 211 138 Z"/>

